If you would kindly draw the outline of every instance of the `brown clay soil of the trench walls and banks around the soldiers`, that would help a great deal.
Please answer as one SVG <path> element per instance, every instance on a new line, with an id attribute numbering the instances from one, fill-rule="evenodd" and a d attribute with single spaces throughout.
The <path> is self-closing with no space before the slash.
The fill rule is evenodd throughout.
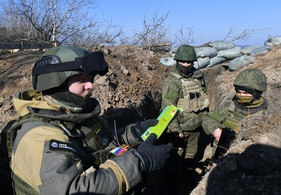
<path id="1" fill-rule="evenodd" d="M 173 68 L 160 64 L 159 58 L 168 53 L 149 52 L 130 45 L 99 47 L 109 66 L 109 72 L 97 76 L 93 97 L 100 101 L 102 115 L 116 126 L 124 126 L 138 120 L 157 118 L 161 110 L 162 82 Z M 0 56 L 0 121 L 1 157 L 0 187 L 11 193 L 9 160 L 5 149 L 5 131 L 10 121 L 18 116 L 12 98 L 18 91 L 32 88 L 32 68 L 42 52 L 19 51 Z M 220 158 L 199 184 L 184 182 L 180 194 L 280 194 L 281 159 L 281 49 L 255 57 L 250 64 L 237 71 L 227 70 L 227 64 L 202 69 L 208 83 L 210 109 L 229 101 L 235 94 L 232 83 L 239 72 L 255 68 L 262 70 L 268 79 L 268 116 L 255 124 L 247 141 L 233 143 L 227 155 Z M 1 131 L 0 130 L 0 131 Z M 204 161 L 210 157 L 207 147 Z M 279 160 L 277 160 L 279 159 Z M 230 168 L 229 168 L 230 167 Z M 201 173 L 199 180 L 201 179 Z M 199 181 L 197 180 L 197 181 Z"/>

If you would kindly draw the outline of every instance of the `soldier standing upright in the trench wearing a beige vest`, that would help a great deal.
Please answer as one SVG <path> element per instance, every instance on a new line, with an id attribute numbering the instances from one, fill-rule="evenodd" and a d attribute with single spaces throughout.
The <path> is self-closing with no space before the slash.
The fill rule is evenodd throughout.
<path id="1" fill-rule="evenodd" d="M 193 67 L 197 61 L 190 45 L 180 46 L 173 72 L 163 82 L 162 109 L 167 105 L 183 108 L 183 112 L 168 126 L 168 139 L 179 148 L 185 168 L 195 165 L 201 122 L 207 114 L 209 100 L 203 74 Z"/>

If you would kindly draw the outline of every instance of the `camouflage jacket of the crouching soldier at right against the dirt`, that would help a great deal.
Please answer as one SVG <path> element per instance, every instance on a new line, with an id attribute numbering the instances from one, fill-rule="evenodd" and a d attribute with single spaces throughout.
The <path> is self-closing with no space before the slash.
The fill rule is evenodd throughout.
<path id="1" fill-rule="evenodd" d="M 235 130 L 238 132 L 242 127 L 251 124 L 255 120 L 259 120 L 261 116 L 267 114 L 267 100 L 264 98 L 264 103 L 259 107 L 246 108 L 233 100 L 230 102 L 224 102 L 215 110 L 210 112 L 208 116 L 202 121 L 202 126 L 207 134 L 213 134 L 214 130 L 217 128 L 223 128 L 225 126 L 229 127 L 226 124 L 228 117 L 235 119 L 239 122 L 238 127 Z M 212 117 L 212 118 L 211 118 Z M 217 123 L 215 122 L 217 121 Z M 220 125 L 220 127 L 218 127 Z M 231 126 L 231 125 L 230 125 Z"/>

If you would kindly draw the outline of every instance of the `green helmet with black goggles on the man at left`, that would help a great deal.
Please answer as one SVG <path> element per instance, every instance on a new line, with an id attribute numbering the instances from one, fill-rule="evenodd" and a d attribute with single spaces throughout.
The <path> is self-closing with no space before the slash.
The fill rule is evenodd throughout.
<path id="1" fill-rule="evenodd" d="M 102 52 L 89 53 L 76 46 L 58 46 L 44 52 L 36 62 L 32 72 L 33 88 L 36 92 L 45 91 L 61 86 L 67 78 L 76 74 L 95 77 L 107 71 Z"/>

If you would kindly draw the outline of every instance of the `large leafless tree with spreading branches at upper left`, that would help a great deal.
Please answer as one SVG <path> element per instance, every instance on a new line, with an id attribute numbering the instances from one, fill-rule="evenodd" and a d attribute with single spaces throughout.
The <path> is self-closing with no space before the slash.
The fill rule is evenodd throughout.
<path id="1" fill-rule="evenodd" d="M 6 0 L 1 7 L 2 26 L 10 40 L 59 42 L 91 49 L 101 42 L 113 44 L 123 35 L 123 26 L 112 19 L 88 17 L 95 0 Z"/>

